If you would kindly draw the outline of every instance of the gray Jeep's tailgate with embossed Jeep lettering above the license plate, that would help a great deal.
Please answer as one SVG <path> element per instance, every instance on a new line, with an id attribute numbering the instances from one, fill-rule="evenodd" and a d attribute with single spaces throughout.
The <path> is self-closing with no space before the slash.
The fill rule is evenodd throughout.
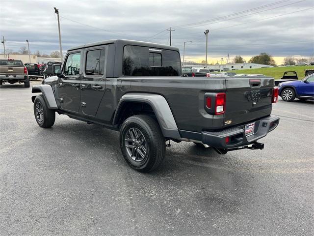
<path id="1" fill-rule="evenodd" d="M 226 78 L 225 127 L 271 114 L 274 78 Z"/>

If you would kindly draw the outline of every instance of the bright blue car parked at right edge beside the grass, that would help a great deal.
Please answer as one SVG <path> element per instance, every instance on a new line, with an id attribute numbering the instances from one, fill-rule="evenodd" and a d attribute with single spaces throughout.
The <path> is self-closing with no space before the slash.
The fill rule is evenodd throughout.
<path id="1" fill-rule="evenodd" d="M 279 96 L 284 101 L 291 102 L 295 98 L 300 100 L 314 99 L 314 74 L 298 81 L 280 83 Z"/>

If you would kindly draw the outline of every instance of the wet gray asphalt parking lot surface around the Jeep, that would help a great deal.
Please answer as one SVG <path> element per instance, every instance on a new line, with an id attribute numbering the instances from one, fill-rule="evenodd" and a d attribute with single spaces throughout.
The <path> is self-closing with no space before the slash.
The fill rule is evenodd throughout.
<path id="1" fill-rule="evenodd" d="M 30 97 L 0 87 L 1 236 L 314 235 L 314 102 L 280 98 L 263 150 L 171 142 L 141 174 L 117 132 L 64 115 L 42 129 Z"/>

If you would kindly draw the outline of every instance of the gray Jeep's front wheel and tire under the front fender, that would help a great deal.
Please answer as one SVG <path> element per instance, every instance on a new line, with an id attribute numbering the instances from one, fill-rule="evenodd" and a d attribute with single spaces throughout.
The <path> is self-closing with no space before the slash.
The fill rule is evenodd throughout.
<path id="1" fill-rule="evenodd" d="M 42 128 L 50 128 L 54 124 L 55 111 L 48 108 L 43 95 L 35 98 L 34 115 L 37 124 Z"/>

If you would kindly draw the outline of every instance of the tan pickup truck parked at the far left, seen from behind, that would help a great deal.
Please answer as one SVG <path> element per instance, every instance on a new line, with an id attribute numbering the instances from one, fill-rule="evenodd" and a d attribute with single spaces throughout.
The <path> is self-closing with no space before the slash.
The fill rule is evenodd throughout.
<path id="1" fill-rule="evenodd" d="M 24 83 L 29 88 L 28 72 L 22 60 L 0 59 L 0 85 L 4 83 Z"/>

